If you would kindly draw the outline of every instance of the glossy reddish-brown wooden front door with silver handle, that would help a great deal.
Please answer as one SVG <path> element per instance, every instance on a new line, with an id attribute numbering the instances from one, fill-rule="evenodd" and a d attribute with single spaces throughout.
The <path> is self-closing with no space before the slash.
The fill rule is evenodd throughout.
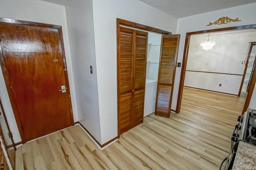
<path id="1" fill-rule="evenodd" d="M 74 124 L 63 48 L 61 27 L 0 23 L 0 64 L 23 143 Z"/>

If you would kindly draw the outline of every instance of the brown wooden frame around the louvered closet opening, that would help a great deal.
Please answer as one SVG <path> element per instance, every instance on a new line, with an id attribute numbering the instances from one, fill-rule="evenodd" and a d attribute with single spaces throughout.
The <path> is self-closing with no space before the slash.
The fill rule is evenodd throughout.
<path id="1" fill-rule="evenodd" d="M 143 24 L 140 24 L 140 23 L 136 23 L 136 22 L 132 22 L 132 21 L 127 21 L 127 20 L 122 20 L 120 18 L 116 18 L 116 66 L 117 66 L 117 131 L 118 131 L 118 138 L 120 138 L 120 116 L 119 116 L 119 107 L 120 107 L 120 102 L 119 102 L 119 99 L 120 99 L 120 95 L 119 95 L 119 80 L 118 80 L 118 76 L 119 76 L 119 73 L 118 73 L 118 70 L 120 70 L 120 65 L 119 65 L 119 51 L 120 51 L 120 43 L 119 43 L 119 40 L 120 40 L 120 25 L 124 25 L 124 26 L 128 26 L 128 27 L 133 27 L 135 29 L 141 29 L 142 31 L 150 31 L 150 32 L 154 32 L 154 33 L 160 33 L 162 35 L 169 35 L 169 34 L 172 34 L 171 32 L 169 31 L 164 31 L 162 29 L 158 29 L 158 28 L 154 28 L 154 27 L 150 27 L 150 26 L 147 26 L 147 25 L 143 25 Z"/>

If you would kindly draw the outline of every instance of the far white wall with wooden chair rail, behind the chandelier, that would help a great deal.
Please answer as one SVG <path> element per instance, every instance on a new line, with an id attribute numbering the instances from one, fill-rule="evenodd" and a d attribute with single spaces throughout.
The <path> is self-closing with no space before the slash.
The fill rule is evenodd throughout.
<path id="1" fill-rule="evenodd" d="M 242 61 L 246 58 L 249 42 L 256 41 L 255 29 L 212 33 L 211 39 L 216 45 L 209 51 L 200 46 L 206 37 L 208 34 L 190 37 L 186 66 L 186 70 L 190 71 L 186 71 L 184 86 L 238 95 L 245 68 Z"/>

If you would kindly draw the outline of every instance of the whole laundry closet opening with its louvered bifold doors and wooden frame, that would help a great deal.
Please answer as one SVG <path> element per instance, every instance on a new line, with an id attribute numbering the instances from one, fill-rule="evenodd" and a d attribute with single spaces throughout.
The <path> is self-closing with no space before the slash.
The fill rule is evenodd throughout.
<path id="1" fill-rule="evenodd" d="M 118 137 L 146 115 L 169 117 L 180 35 L 117 19 Z"/>

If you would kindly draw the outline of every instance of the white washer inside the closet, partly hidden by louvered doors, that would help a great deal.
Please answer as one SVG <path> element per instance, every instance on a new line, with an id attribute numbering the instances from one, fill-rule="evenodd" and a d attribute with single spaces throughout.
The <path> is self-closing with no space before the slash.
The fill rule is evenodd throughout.
<path id="1" fill-rule="evenodd" d="M 146 79 L 144 117 L 155 111 L 156 86 L 157 86 L 157 81 Z"/>

